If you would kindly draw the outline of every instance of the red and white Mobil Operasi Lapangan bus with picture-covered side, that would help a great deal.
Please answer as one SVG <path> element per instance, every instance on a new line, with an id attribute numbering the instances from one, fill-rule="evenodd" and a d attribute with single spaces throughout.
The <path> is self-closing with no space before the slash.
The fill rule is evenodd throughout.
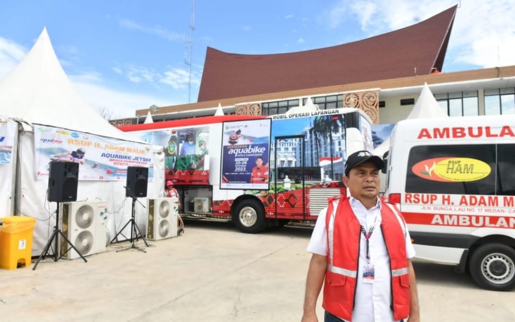
<path id="1" fill-rule="evenodd" d="M 165 147 L 165 179 L 179 192 L 182 216 L 233 219 L 247 233 L 316 221 L 329 197 L 346 193 L 346 156 L 372 149 L 370 118 L 353 108 L 120 129 Z"/>

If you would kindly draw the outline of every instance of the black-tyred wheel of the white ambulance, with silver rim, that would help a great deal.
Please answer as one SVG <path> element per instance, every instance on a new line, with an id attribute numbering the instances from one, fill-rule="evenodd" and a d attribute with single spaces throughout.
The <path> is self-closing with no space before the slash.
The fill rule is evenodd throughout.
<path id="1" fill-rule="evenodd" d="M 470 257 L 470 275 L 481 287 L 509 291 L 515 287 L 515 249 L 492 243 L 479 246 Z"/>

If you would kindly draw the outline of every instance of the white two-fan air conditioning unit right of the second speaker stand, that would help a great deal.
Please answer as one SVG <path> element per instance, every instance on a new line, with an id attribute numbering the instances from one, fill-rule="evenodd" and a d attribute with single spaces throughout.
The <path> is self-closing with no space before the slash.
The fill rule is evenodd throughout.
<path id="1" fill-rule="evenodd" d="M 157 241 L 177 236 L 177 198 L 147 199 L 147 239 Z"/>

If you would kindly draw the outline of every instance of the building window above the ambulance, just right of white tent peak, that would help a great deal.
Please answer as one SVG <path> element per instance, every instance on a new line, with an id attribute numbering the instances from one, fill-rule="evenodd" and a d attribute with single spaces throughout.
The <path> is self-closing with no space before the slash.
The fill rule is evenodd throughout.
<path id="1" fill-rule="evenodd" d="M 478 115 L 477 91 L 435 94 L 436 101 L 449 116 Z"/>

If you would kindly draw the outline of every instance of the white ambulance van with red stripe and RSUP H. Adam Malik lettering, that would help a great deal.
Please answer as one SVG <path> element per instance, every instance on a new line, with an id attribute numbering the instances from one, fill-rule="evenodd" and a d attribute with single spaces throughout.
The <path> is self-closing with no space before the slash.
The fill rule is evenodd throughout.
<path id="1" fill-rule="evenodd" d="M 417 258 L 515 287 L 515 115 L 401 121 L 386 171 Z"/>

